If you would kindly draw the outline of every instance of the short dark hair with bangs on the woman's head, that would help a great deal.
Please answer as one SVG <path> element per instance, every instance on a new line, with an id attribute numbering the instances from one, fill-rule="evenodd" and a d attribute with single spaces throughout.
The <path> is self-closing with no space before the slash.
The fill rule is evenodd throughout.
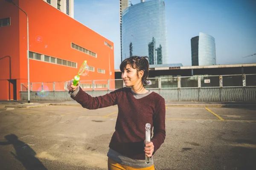
<path id="1" fill-rule="evenodd" d="M 143 85 L 148 85 L 148 72 L 149 72 L 149 63 L 148 57 L 139 57 L 139 56 L 131 56 L 123 60 L 120 64 L 120 71 L 124 71 L 126 69 L 126 65 L 131 65 L 132 68 L 137 69 L 137 76 L 139 76 L 138 71 L 144 71 L 143 77 L 141 78 Z"/>

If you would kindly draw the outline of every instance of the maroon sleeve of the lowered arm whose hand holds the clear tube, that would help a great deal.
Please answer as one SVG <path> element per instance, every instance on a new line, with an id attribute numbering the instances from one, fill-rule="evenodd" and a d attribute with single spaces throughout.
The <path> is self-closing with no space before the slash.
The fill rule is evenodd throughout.
<path id="1" fill-rule="evenodd" d="M 156 112 L 153 117 L 153 138 L 151 142 L 154 144 L 154 152 L 153 154 L 160 148 L 161 144 L 163 144 L 164 139 L 166 137 L 165 130 L 165 117 L 166 117 L 166 107 L 165 100 L 161 98 L 156 105 Z"/>

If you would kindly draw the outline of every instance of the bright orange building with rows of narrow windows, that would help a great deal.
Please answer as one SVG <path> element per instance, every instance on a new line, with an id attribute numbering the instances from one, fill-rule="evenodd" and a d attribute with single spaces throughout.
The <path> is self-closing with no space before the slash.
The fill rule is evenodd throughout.
<path id="1" fill-rule="evenodd" d="M 113 42 L 43 0 L 13 2 L 29 18 L 30 82 L 68 81 L 84 60 L 90 71 L 81 80 L 114 79 Z M 19 100 L 28 82 L 27 18 L 17 6 L 0 0 L 0 100 Z"/>

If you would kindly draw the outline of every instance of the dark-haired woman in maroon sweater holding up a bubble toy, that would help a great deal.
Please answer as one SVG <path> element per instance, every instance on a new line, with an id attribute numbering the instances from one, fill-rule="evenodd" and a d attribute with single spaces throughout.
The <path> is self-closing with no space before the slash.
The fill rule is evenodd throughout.
<path id="1" fill-rule="evenodd" d="M 120 64 L 124 88 L 104 96 L 92 97 L 79 84 L 68 83 L 71 97 L 87 109 L 118 106 L 115 132 L 108 150 L 108 170 L 154 170 L 154 153 L 163 144 L 165 132 L 165 101 L 144 88 L 148 84 L 148 57 L 132 56 Z M 127 88 L 129 87 L 129 88 Z M 145 124 L 151 124 L 153 137 L 145 145 Z M 145 156 L 150 162 L 145 163 Z"/>

